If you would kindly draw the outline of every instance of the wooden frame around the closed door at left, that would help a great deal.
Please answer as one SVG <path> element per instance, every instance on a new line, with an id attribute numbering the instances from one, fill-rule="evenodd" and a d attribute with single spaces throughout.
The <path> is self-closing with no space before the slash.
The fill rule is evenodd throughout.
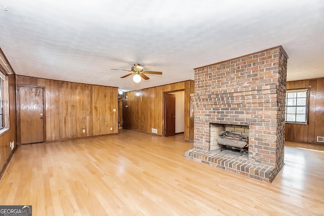
<path id="1" fill-rule="evenodd" d="M 45 107 L 45 87 L 39 85 L 26 85 L 26 84 L 17 84 L 17 97 L 16 97 L 16 105 L 17 105 L 17 143 L 21 145 L 21 128 L 20 128 L 20 88 L 21 87 L 31 87 L 31 88 L 40 88 L 43 89 L 43 118 L 44 118 L 44 142 L 46 142 L 46 107 Z"/>

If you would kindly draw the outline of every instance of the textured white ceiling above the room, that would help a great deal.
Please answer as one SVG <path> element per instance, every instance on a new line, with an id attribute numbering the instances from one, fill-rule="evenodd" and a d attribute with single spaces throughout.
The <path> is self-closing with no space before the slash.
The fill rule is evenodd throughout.
<path id="1" fill-rule="evenodd" d="M 7 7 L 8 10 L 4 10 Z M 282 45 L 288 80 L 324 77 L 324 1 L 0 0 L 0 47 L 16 74 L 119 87 L 110 68 L 140 63 L 142 88 Z"/>

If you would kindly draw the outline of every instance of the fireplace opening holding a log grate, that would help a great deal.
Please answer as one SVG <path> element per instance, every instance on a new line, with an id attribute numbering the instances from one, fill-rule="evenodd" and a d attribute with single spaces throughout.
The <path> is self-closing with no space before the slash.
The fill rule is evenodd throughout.
<path id="1" fill-rule="evenodd" d="M 210 150 L 219 149 L 222 154 L 239 152 L 240 156 L 248 155 L 249 126 L 211 123 L 210 148 Z"/>

